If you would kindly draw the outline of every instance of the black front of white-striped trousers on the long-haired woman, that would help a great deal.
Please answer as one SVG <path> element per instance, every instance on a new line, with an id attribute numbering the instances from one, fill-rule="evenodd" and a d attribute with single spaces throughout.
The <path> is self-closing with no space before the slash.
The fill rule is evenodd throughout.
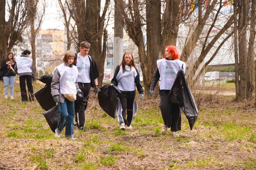
<path id="1" fill-rule="evenodd" d="M 122 106 L 122 117 L 124 119 L 125 125 L 129 126 L 132 123 L 132 117 L 133 117 L 133 101 L 134 98 L 128 98 L 125 95 L 120 95 L 119 100 Z M 126 117 L 126 110 L 127 110 L 127 117 Z"/>

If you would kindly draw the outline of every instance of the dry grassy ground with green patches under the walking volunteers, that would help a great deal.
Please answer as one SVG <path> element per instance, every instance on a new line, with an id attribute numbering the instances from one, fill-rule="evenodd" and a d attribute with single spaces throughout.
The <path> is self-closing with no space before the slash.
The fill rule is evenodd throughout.
<path id="1" fill-rule="evenodd" d="M 34 83 L 34 91 L 43 85 Z M 133 128 L 119 131 L 116 119 L 90 96 L 86 132 L 77 141 L 56 139 L 38 102 L 4 99 L 0 83 L 0 169 L 256 169 L 256 115 L 251 104 L 233 96 L 211 96 L 200 103 L 192 131 L 182 113 L 180 138 L 163 126 L 159 98 L 140 101 Z M 92 93 L 91 93 L 92 94 Z M 138 96 L 138 95 L 137 95 Z"/>

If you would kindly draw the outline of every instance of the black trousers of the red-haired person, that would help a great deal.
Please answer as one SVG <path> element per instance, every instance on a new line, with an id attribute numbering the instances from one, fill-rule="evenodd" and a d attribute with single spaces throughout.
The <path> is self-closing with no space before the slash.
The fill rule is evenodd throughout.
<path id="1" fill-rule="evenodd" d="M 179 105 L 170 103 L 167 99 L 168 93 L 160 95 L 160 104 L 164 124 L 171 128 L 171 131 L 181 130 L 181 110 Z"/>

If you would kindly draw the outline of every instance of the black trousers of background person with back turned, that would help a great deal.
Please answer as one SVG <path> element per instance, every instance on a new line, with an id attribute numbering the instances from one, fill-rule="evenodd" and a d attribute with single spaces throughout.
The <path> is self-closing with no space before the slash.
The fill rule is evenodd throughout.
<path id="1" fill-rule="evenodd" d="M 28 101 L 26 82 L 27 82 L 27 87 L 29 91 L 29 101 L 35 101 L 33 86 L 32 86 L 32 76 L 22 75 L 19 78 L 20 78 L 20 88 L 21 88 L 21 101 Z"/>

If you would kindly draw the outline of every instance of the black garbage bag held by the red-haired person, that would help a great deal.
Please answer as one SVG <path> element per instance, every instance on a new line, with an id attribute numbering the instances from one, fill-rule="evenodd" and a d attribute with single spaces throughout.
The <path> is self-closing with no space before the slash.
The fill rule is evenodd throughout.
<path id="1" fill-rule="evenodd" d="M 188 119 L 190 130 L 192 130 L 198 117 L 198 109 L 196 100 L 188 88 L 188 83 L 183 72 L 183 66 L 177 73 L 174 84 L 168 94 L 168 99 L 171 103 L 179 105 Z"/>

